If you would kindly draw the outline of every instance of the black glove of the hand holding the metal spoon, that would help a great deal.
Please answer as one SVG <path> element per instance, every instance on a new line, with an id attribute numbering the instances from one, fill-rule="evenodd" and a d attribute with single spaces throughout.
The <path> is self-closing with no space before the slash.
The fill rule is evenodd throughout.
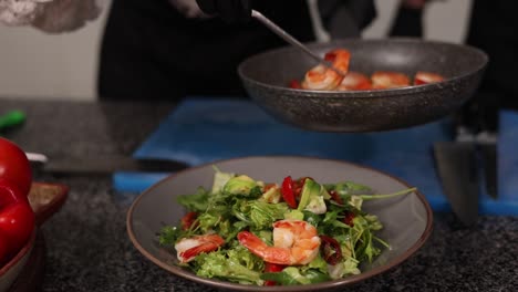
<path id="1" fill-rule="evenodd" d="M 247 22 L 251 19 L 251 0 L 196 0 L 207 14 L 218 14 L 226 22 Z"/>

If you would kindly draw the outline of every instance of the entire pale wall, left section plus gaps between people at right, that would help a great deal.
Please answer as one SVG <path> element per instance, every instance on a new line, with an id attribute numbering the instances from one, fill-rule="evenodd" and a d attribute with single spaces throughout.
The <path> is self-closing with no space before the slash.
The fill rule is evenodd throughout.
<path id="1" fill-rule="evenodd" d="M 397 1 L 376 0 L 379 18 L 364 32 L 365 38 L 386 35 Z M 431 2 L 425 14 L 425 38 L 462 42 L 469 8 L 470 0 Z M 0 27 L 0 97 L 94 100 L 106 10 L 80 31 L 63 35 Z"/>

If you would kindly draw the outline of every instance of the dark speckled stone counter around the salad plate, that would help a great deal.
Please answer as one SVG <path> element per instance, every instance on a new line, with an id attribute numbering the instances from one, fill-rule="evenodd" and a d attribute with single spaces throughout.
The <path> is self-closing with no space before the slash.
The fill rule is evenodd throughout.
<path id="1" fill-rule="evenodd" d="M 131 155 L 173 108 L 0 98 L 0 114 L 28 114 L 27 123 L 6 136 L 50 157 Z M 38 174 L 35 179 L 71 187 L 61 211 L 42 227 L 43 291 L 209 291 L 138 253 L 125 226 L 136 194 L 114 191 L 110 176 Z M 434 231 L 414 257 L 344 291 L 518 291 L 517 217 L 485 216 L 466 229 L 450 213 L 434 216 Z"/>

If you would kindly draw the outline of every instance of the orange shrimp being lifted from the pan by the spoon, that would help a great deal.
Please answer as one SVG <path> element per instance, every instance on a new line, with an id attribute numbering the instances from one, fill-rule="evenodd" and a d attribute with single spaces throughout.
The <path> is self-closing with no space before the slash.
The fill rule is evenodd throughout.
<path id="1" fill-rule="evenodd" d="M 349 60 L 351 54 L 343 49 L 335 49 L 328 52 L 324 56 L 327 61 L 333 64 L 333 67 L 346 73 L 349 71 Z M 305 73 L 302 81 L 302 88 L 317 91 L 332 91 L 336 88 L 343 80 L 343 75 L 322 64 L 312 67 Z"/>

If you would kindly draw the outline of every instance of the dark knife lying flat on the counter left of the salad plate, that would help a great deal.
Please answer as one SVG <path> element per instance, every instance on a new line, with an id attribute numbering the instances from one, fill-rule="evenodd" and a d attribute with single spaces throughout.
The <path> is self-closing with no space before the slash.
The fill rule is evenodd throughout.
<path id="1" fill-rule="evenodd" d="M 43 154 L 27 153 L 35 169 L 60 175 L 103 175 L 115 171 L 174 173 L 189 167 L 187 164 L 160 158 L 126 156 L 51 159 Z"/>

